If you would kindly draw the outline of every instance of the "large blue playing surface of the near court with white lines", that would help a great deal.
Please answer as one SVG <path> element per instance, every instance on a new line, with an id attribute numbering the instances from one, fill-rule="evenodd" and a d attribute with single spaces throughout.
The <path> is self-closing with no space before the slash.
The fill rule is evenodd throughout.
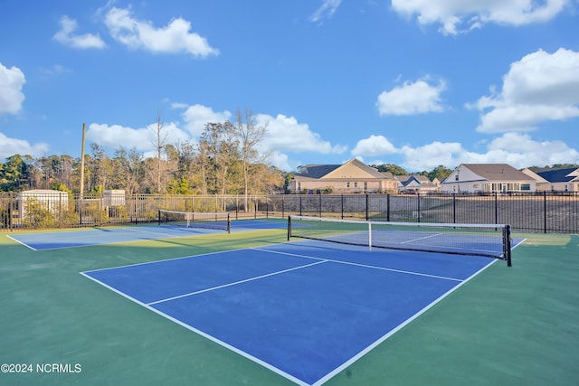
<path id="1" fill-rule="evenodd" d="M 320 385 L 495 259 L 290 242 L 82 272 L 299 385 Z"/>

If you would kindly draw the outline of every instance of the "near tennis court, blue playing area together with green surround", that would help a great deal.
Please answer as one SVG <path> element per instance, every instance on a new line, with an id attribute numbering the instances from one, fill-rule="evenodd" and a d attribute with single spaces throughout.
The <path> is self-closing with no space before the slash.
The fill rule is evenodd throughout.
<path id="1" fill-rule="evenodd" d="M 2 373 L 3 384 L 579 379 L 574 235 L 514 235 L 513 247 L 527 240 L 511 268 L 287 242 L 283 227 L 45 250 L 6 236 L 0 361 L 79 363 L 81 372 Z"/>

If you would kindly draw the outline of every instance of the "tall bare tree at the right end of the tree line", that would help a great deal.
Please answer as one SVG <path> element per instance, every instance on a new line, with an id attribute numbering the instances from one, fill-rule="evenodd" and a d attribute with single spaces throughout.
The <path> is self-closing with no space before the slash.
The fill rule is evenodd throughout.
<path id="1" fill-rule="evenodd" d="M 237 122 L 235 126 L 235 136 L 239 140 L 242 156 L 243 170 L 243 195 L 245 197 L 245 211 L 248 211 L 250 166 L 259 164 L 269 155 L 260 155 L 257 147 L 265 137 L 268 131 L 268 124 L 258 125 L 257 119 L 253 116 L 251 109 L 245 110 L 245 122 L 243 122 L 242 112 L 237 109 Z"/>

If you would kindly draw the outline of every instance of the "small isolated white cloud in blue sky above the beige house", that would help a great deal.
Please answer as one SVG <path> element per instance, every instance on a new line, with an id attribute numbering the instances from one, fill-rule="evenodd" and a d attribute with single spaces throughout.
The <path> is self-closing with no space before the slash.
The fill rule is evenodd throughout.
<path id="1" fill-rule="evenodd" d="M 376 107 L 380 115 L 411 115 L 440 112 L 441 92 L 446 89 L 444 81 L 431 85 L 426 80 L 404 82 L 400 87 L 383 91 L 378 95 Z"/>

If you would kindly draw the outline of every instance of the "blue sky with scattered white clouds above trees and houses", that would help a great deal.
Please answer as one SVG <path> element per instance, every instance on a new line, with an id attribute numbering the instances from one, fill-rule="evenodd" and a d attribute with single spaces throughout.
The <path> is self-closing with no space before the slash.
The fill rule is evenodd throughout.
<path id="1" fill-rule="evenodd" d="M 251 111 L 284 171 L 579 163 L 579 0 L 0 0 L 0 160 Z"/>

